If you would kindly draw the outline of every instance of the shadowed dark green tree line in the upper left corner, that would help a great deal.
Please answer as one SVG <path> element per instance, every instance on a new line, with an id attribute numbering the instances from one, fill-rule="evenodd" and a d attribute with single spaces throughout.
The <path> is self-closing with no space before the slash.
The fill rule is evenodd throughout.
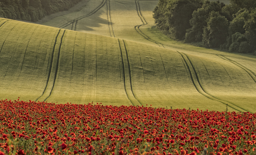
<path id="1" fill-rule="evenodd" d="M 45 15 L 65 11 L 81 0 L 0 0 L 0 17 L 36 22 Z"/>

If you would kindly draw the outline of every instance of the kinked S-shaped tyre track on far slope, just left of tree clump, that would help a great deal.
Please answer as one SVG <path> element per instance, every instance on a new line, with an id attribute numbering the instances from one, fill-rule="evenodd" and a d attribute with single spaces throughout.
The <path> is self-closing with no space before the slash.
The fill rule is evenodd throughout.
<path id="1" fill-rule="evenodd" d="M 140 17 L 141 21 L 143 24 L 141 25 L 137 25 L 135 26 L 135 30 L 137 31 L 137 33 L 139 33 L 142 37 L 144 37 L 145 39 L 147 39 L 148 41 L 151 41 L 153 43 L 156 43 L 159 47 L 164 47 L 161 43 L 155 41 L 155 40 L 152 40 L 151 38 L 149 38 L 147 35 L 145 35 L 141 30 L 140 30 L 140 26 L 143 26 L 143 25 L 147 25 L 148 23 L 146 22 L 146 20 L 144 19 L 144 17 L 141 15 L 141 12 L 140 12 L 140 6 L 139 6 L 139 1 L 135 1 L 135 5 L 136 5 L 136 10 L 137 10 L 137 13 L 138 13 L 138 16 Z"/>

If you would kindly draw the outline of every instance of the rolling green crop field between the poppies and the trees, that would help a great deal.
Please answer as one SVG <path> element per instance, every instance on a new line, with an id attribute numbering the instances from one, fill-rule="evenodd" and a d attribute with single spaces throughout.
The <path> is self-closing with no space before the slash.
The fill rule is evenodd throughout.
<path id="1" fill-rule="evenodd" d="M 87 4 L 45 25 L 92 34 L 0 19 L 1 99 L 256 112 L 254 56 L 170 40 L 157 1 Z"/>

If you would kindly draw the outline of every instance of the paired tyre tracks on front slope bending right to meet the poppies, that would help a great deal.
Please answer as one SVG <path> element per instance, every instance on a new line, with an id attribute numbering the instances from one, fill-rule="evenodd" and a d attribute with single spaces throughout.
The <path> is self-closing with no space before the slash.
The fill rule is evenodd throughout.
<path id="1" fill-rule="evenodd" d="M 178 52 L 178 51 L 177 51 L 177 52 Z M 191 60 L 189 59 L 189 57 L 188 57 L 185 53 L 182 53 L 182 52 L 178 52 L 178 53 L 179 53 L 179 54 L 182 56 L 182 58 L 184 59 L 184 61 L 185 61 L 185 63 L 186 63 L 186 66 L 187 66 L 188 69 L 189 69 L 189 72 L 190 72 L 190 75 L 191 75 L 193 84 L 194 84 L 194 86 L 196 87 L 197 91 L 198 91 L 200 94 L 204 95 L 205 97 L 207 97 L 207 98 L 209 98 L 209 99 L 211 99 L 211 100 L 214 100 L 214 101 L 218 101 L 218 102 L 220 102 L 220 103 L 223 103 L 224 105 L 227 105 L 227 104 L 228 104 L 228 106 L 229 106 L 230 108 L 233 108 L 234 110 L 237 110 L 237 111 L 240 111 L 240 112 L 242 112 L 243 110 L 244 110 L 244 111 L 248 111 L 248 110 L 246 110 L 246 109 L 244 109 L 244 108 L 242 108 L 242 107 L 239 107 L 238 105 L 235 105 L 234 103 L 221 100 L 221 99 L 219 99 L 219 98 L 217 98 L 217 97 L 215 97 L 215 96 L 212 96 L 212 95 L 206 93 L 205 90 L 203 89 L 203 87 L 202 87 L 201 84 L 200 84 L 200 81 L 201 81 L 201 80 L 198 78 L 198 74 L 197 74 L 197 72 L 196 72 L 196 70 L 195 70 L 195 68 L 194 68 L 194 66 L 193 66 L 193 64 L 192 64 L 192 62 L 191 62 Z M 232 105 L 230 105 L 230 104 L 232 104 Z M 249 111 L 249 112 L 250 112 L 250 111 Z"/>

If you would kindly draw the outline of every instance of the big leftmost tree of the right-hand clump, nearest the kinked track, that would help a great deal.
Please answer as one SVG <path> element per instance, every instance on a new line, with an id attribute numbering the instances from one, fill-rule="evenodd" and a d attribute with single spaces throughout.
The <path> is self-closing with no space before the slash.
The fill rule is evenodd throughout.
<path id="1" fill-rule="evenodd" d="M 170 38 L 184 39 L 193 11 L 202 4 L 203 0 L 160 0 L 153 11 L 157 28 Z"/>

